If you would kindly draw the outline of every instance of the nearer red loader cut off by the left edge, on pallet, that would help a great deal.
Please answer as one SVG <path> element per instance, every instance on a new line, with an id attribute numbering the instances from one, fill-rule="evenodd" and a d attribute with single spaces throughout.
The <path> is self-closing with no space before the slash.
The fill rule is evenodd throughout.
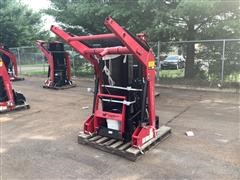
<path id="1" fill-rule="evenodd" d="M 12 89 L 5 63 L 0 58 L 0 113 L 29 108 L 24 95 Z"/>

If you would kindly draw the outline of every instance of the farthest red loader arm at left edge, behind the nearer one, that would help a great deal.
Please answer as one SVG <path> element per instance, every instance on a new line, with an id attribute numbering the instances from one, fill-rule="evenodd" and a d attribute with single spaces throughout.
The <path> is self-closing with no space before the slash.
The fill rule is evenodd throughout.
<path id="1" fill-rule="evenodd" d="M 9 51 L 7 46 L 0 46 L 0 56 L 4 61 L 11 81 L 22 81 L 24 78 L 18 77 L 18 67 L 16 56 Z"/>

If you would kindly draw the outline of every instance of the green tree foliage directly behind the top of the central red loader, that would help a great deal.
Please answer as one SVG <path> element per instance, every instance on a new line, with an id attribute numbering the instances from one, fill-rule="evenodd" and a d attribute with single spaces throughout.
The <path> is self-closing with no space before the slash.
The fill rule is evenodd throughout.
<path id="1" fill-rule="evenodd" d="M 61 26 L 76 34 L 106 32 L 104 19 L 112 16 L 133 33 L 145 31 L 152 23 L 154 13 L 144 11 L 138 0 L 51 0 L 47 14 L 55 17 Z"/>

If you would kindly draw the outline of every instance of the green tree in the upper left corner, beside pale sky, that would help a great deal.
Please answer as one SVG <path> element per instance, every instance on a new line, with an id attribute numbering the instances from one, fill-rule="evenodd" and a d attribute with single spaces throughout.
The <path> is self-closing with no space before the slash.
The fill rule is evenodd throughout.
<path id="1" fill-rule="evenodd" d="M 17 0 L 1 0 L 0 17 L 0 43 L 9 47 L 27 46 L 49 37 L 49 33 L 42 30 L 41 14 Z"/>

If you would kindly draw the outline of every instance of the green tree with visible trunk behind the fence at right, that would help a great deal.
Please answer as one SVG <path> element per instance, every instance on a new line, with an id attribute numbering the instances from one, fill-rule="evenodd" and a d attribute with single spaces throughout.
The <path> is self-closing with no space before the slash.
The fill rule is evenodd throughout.
<path id="1" fill-rule="evenodd" d="M 197 39 L 238 38 L 240 4 L 238 1 L 179 0 L 167 11 L 158 11 L 158 21 L 172 27 L 174 40 L 194 41 Z M 171 28 L 170 28 L 171 29 Z M 194 77 L 194 43 L 186 50 L 185 77 Z"/>

